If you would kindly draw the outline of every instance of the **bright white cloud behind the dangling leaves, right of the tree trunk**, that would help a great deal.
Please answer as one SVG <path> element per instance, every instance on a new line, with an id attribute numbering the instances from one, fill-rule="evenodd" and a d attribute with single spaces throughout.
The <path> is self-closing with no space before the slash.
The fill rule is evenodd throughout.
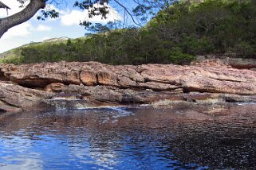
<path id="1" fill-rule="evenodd" d="M 109 14 L 107 15 L 107 19 L 102 19 L 101 16 L 94 16 L 93 18 L 89 18 L 88 10 L 66 10 L 62 12 L 61 15 L 61 25 L 71 26 L 71 25 L 79 25 L 80 21 L 90 21 L 92 23 L 106 23 L 108 21 L 116 21 L 121 20 L 120 14 L 116 12 L 111 6 L 109 7 Z"/>

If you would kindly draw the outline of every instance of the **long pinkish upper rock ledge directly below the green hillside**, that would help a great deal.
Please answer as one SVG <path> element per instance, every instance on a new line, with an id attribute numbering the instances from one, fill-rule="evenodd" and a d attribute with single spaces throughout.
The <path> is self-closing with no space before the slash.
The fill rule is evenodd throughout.
<path id="1" fill-rule="evenodd" d="M 25 87 L 46 87 L 49 83 L 112 86 L 167 91 L 219 92 L 256 95 L 256 72 L 226 65 L 177 66 L 148 64 L 110 66 L 95 62 L 0 66 L 6 79 Z"/>

